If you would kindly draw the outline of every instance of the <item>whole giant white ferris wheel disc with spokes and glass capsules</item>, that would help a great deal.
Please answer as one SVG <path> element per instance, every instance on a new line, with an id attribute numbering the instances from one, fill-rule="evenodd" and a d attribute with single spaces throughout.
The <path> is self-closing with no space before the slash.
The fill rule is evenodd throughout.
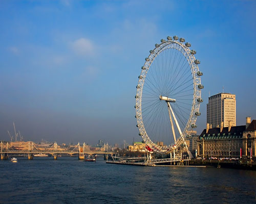
<path id="1" fill-rule="evenodd" d="M 184 38 L 168 36 L 150 50 L 136 93 L 139 135 L 156 152 L 181 151 L 197 127 L 201 98 L 200 61 Z"/>

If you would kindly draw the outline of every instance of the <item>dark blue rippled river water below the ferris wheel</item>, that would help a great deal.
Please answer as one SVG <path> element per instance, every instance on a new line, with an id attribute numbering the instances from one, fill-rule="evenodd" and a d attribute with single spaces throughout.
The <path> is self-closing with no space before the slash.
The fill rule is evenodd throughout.
<path id="1" fill-rule="evenodd" d="M 0 161 L 0 203 L 256 203 L 256 172 L 77 158 Z"/>

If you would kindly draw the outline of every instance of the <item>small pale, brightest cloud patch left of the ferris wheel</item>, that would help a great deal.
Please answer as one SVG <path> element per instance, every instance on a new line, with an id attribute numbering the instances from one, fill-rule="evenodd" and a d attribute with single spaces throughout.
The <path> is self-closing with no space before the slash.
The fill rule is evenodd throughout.
<path id="1" fill-rule="evenodd" d="M 92 57 L 95 55 L 95 45 L 87 38 L 79 38 L 71 43 L 76 54 L 84 57 Z"/>

